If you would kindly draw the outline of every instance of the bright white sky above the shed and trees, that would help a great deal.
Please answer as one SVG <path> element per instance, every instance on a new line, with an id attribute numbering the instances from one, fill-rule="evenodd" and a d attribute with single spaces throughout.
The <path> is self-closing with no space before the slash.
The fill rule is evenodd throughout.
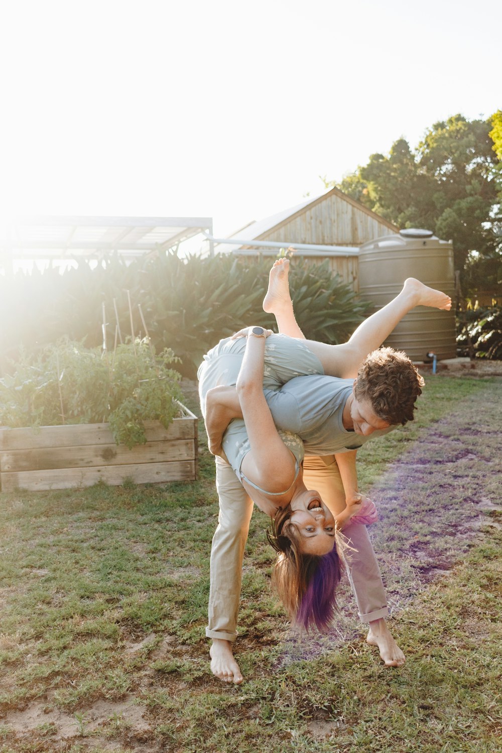
<path id="1" fill-rule="evenodd" d="M 502 106 L 488 0 L 12 0 L 0 212 L 197 215 L 227 236 L 400 136 Z"/>

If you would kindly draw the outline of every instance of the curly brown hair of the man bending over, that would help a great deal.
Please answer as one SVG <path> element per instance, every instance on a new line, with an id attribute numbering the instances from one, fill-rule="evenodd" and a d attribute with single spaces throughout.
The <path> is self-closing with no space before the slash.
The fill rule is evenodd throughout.
<path id="1" fill-rule="evenodd" d="M 354 382 L 357 400 L 367 398 L 373 413 L 392 426 L 413 420 L 415 401 L 424 379 L 406 353 L 394 348 L 373 350 Z"/>

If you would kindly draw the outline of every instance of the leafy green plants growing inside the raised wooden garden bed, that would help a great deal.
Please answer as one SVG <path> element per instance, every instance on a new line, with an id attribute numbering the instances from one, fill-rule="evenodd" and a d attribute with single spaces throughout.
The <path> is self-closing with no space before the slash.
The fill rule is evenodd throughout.
<path id="1" fill-rule="evenodd" d="M 181 379 L 170 349 L 156 355 L 144 338 L 112 352 L 59 340 L 24 352 L 0 380 L 0 421 L 11 427 L 110 422 L 117 444 L 145 444 L 144 421 L 169 426 L 180 412 Z"/>

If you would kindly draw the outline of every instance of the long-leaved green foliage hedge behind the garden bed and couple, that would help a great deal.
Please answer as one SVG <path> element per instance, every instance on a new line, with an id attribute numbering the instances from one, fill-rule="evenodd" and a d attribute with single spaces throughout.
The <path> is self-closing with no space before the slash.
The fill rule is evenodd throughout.
<path id="1" fill-rule="evenodd" d="M 135 336 L 144 336 L 140 304 L 157 352 L 171 348 L 183 361 L 181 372 L 194 377 L 202 355 L 221 337 L 248 324 L 275 325 L 261 307 L 271 264 L 262 257 L 184 260 L 169 253 L 129 265 L 114 257 L 105 265 L 81 264 L 63 274 L 49 269 L 5 276 L 0 279 L 2 366 L 5 369 L 6 358 L 17 358 L 21 346 L 30 353 L 60 337 L 101 345 L 103 303 L 109 349 L 117 324 L 123 339 L 131 336 L 132 328 Z M 327 261 L 294 259 L 291 291 L 297 320 L 311 339 L 346 340 L 366 310 L 351 288 L 333 277 Z"/>

